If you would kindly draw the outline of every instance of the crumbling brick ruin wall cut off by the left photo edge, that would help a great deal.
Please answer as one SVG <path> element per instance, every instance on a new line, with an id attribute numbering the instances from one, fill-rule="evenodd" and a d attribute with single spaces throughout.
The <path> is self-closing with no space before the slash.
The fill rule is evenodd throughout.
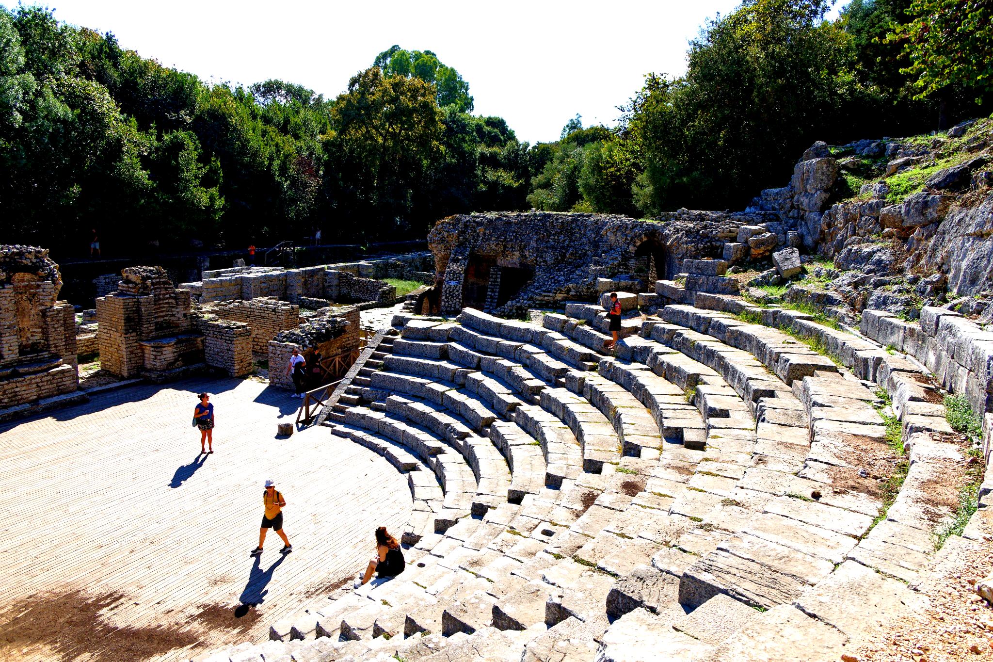
<path id="1" fill-rule="evenodd" d="M 0 245 L 0 410 L 76 390 L 75 318 L 44 248 Z"/>

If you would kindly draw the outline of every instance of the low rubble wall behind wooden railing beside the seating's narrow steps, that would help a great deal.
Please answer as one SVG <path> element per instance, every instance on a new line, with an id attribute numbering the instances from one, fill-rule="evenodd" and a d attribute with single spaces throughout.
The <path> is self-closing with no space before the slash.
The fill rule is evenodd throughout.
<path id="1" fill-rule="evenodd" d="M 293 378 L 286 374 L 286 366 L 294 348 L 307 359 L 308 366 L 315 347 L 323 358 L 356 352 L 359 345 L 358 326 L 358 308 L 348 307 L 329 312 L 295 330 L 277 334 L 268 342 L 269 384 L 278 388 L 293 388 Z"/>

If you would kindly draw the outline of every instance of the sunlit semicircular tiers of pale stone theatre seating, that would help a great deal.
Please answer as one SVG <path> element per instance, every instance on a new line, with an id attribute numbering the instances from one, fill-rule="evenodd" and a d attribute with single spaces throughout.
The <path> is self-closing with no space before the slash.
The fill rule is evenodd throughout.
<path id="1" fill-rule="evenodd" d="M 962 458 L 910 363 L 764 311 L 632 312 L 614 351 L 588 304 L 396 316 L 324 425 L 407 476 L 407 570 L 206 659 L 839 659 L 913 612 Z M 892 503 L 867 370 L 904 418 Z"/>

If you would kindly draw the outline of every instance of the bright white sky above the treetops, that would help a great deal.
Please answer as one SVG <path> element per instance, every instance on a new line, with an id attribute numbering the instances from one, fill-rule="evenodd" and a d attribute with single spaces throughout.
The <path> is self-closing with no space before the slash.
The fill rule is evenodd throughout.
<path id="1" fill-rule="evenodd" d="M 26 3 L 30 0 L 25 0 Z M 705 19 L 738 0 L 240 2 L 53 0 L 61 21 L 206 80 L 281 78 L 334 97 L 398 44 L 431 50 L 469 81 L 477 114 L 520 140 L 557 140 L 576 113 L 614 124 L 648 71 L 681 74 Z M 3 0 L 8 7 L 14 2 Z"/>

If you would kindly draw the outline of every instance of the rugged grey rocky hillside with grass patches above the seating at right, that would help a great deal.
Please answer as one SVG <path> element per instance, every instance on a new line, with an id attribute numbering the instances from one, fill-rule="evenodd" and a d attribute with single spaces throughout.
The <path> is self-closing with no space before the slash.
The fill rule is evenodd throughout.
<path id="1" fill-rule="evenodd" d="M 916 319 L 922 306 L 950 305 L 993 321 L 993 118 L 910 138 L 817 143 L 790 185 L 762 192 L 752 208 L 795 222 L 819 256 L 805 258 L 806 274 L 788 290 L 772 270 L 743 277 L 761 286 L 753 297 L 812 300 L 842 319 L 866 308 Z"/>

